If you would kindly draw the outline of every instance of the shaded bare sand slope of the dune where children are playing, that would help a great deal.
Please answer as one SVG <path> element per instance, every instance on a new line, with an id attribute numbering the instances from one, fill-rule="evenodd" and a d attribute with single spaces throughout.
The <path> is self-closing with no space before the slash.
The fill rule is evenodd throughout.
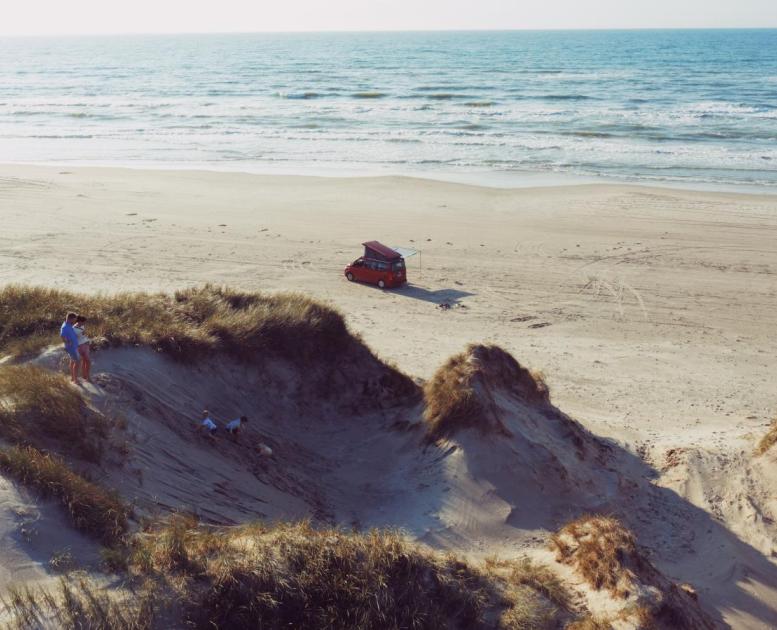
<path id="1" fill-rule="evenodd" d="M 39 362 L 56 367 L 59 355 L 48 352 Z M 321 396 L 310 387 L 310 369 L 285 362 L 216 358 L 184 366 L 143 348 L 97 358 L 87 395 L 128 425 L 127 456 L 105 466 L 103 481 L 135 504 L 137 516 L 185 511 L 221 524 L 311 517 L 399 527 L 475 558 L 529 555 L 550 563 L 581 606 L 612 614 L 631 600 L 591 591 L 547 550 L 550 532 L 568 519 L 612 513 L 670 580 L 697 589 L 717 624 L 777 624 L 777 565 L 705 506 L 662 487 L 659 471 L 643 459 L 550 401 L 527 399 L 509 386 L 515 374 L 497 378 L 502 364 L 483 372 L 477 395 L 504 430 L 475 425 L 430 444 L 423 404 L 376 404 L 360 391 Z M 219 420 L 246 413 L 252 421 L 237 442 L 225 435 L 210 441 L 194 430 L 203 406 Z M 269 444 L 272 457 L 258 455 L 258 443 Z"/>

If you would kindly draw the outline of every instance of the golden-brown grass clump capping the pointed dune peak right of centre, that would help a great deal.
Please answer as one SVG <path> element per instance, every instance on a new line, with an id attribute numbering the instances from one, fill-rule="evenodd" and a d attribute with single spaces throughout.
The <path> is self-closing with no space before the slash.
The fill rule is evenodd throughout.
<path id="1" fill-rule="evenodd" d="M 509 435 L 492 399 L 503 389 L 528 403 L 549 401 L 541 378 L 498 346 L 470 345 L 451 357 L 424 388 L 424 418 L 430 439 L 450 437 L 466 428 Z"/>

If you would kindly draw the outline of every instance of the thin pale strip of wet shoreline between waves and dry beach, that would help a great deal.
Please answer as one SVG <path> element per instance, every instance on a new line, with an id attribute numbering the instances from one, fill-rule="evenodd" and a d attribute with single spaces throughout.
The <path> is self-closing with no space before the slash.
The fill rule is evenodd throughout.
<path id="1" fill-rule="evenodd" d="M 423 169 L 369 169 L 366 167 L 301 167 L 298 169 L 273 169 L 266 164 L 241 162 L 240 167 L 230 162 L 89 162 L 89 161 L 45 161 L 45 162 L 2 162 L 0 168 L 78 168 L 78 169 L 126 169 L 129 171 L 184 172 L 184 173 L 233 173 L 257 175 L 261 177 L 300 177 L 325 179 L 371 179 L 406 178 L 422 181 L 463 184 L 478 188 L 495 190 L 524 190 L 542 188 L 566 188 L 575 186 L 626 186 L 648 189 L 666 189 L 698 193 L 721 193 L 735 195 L 753 195 L 777 197 L 777 187 L 747 184 L 714 184 L 707 182 L 678 182 L 672 180 L 647 180 L 640 178 L 613 179 L 594 175 L 576 175 L 543 171 L 505 172 L 505 171 L 438 171 Z"/>

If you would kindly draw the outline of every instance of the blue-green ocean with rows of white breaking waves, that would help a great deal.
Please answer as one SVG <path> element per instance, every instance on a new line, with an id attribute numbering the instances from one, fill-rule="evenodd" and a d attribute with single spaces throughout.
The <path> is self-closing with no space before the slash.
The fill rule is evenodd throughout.
<path id="1" fill-rule="evenodd" d="M 777 190 L 777 30 L 5 38 L 0 161 Z"/>

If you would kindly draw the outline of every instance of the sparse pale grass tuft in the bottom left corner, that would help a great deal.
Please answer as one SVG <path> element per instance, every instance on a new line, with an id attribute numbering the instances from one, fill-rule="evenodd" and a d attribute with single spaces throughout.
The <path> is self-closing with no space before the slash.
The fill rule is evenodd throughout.
<path id="1" fill-rule="evenodd" d="M 54 593 L 12 588 L 0 602 L 9 630 L 150 630 L 155 608 L 148 591 L 117 594 L 83 576 L 61 578 Z"/>

